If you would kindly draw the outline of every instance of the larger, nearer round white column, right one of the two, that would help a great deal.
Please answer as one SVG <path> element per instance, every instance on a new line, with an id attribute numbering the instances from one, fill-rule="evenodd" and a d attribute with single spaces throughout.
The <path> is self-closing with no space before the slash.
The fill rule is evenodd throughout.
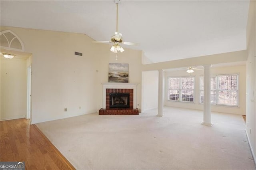
<path id="1" fill-rule="evenodd" d="M 204 65 L 204 121 L 201 124 L 213 125 L 211 123 L 211 65 Z"/>

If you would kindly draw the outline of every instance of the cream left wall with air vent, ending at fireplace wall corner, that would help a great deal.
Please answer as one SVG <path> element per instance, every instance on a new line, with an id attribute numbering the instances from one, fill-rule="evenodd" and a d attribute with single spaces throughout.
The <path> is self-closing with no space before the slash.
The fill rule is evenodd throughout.
<path id="1" fill-rule="evenodd" d="M 83 34 L 44 30 L 1 30 L 12 30 L 23 41 L 26 52 L 33 55 L 32 124 L 96 111 L 92 39 Z M 74 55 L 74 51 L 83 56 Z"/>

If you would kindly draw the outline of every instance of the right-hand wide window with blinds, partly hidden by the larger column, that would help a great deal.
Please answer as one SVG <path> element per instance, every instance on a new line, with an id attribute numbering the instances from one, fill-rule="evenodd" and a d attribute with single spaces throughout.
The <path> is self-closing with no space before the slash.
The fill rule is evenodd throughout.
<path id="1" fill-rule="evenodd" d="M 204 77 L 200 77 L 200 103 L 204 103 Z M 238 75 L 211 77 L 211 104 L 238 106 Z"/>

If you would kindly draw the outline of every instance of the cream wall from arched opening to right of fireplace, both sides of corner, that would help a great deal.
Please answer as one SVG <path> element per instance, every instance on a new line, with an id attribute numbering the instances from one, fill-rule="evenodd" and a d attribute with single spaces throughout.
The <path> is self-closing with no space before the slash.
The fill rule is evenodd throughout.
<path id="1" fill-rule="evenodd" d="M 116 61 L 110 45 L 92 43 L 85 34 L 14 27 L 2 30 L 17 34 L 33 56 L 32 124 L 96 113 L 102 108 L 101 83 L 108 82 L 108 63 L 129 63 L 129 81 L 139 83 L 140 109 L 141 51 L 124 47 Z M 83 56 L 74 55 L 74 51 Z"/>

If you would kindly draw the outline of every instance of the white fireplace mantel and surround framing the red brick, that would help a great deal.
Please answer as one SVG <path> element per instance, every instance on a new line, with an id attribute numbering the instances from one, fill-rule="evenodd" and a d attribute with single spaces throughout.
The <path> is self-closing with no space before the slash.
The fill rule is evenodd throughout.
<path id="1" fill-rule="evenodd" d="M 133 109 L 137 108 L 137 85 L 138 83 L 102 83 L 103 99 L 102 108 L 106 109 L 106 89 L 133 89 Z"/>

